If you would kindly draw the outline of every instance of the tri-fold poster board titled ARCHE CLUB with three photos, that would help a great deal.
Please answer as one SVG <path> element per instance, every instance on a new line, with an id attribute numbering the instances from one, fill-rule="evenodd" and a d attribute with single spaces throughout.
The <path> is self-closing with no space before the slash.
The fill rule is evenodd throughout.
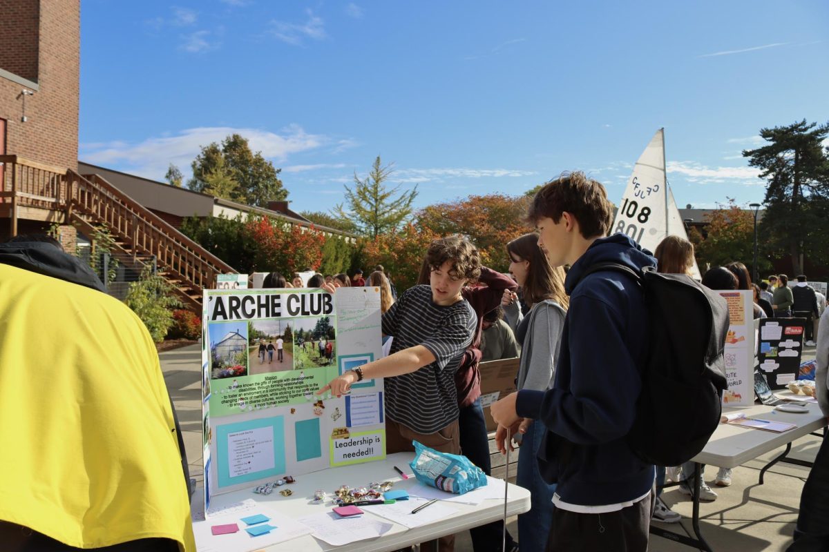
<path id="1" fill-rule="evenodd" d="M 383 381 L 317 391 L 382 355 L 380 289 L 205 290 L 205 510 L 211 496 L 385 458 Z"/>

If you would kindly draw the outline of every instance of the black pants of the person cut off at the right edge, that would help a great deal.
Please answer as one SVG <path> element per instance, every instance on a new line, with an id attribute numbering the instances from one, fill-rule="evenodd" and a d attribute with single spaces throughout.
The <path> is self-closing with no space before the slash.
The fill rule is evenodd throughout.
<path id="1" fill-rule="evenodd" d="M 829 550 L 829 437 L 823 435 L 821 449 L 800 495 L 800 511 L 794 542 L 787 552 Z"/>

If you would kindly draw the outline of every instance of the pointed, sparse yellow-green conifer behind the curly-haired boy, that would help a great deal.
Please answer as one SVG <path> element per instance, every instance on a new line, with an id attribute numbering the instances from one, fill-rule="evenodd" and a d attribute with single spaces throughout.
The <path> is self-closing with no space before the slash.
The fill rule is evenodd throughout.
<path id="1" fill-rule="evenodd" d="M 377 156 L 365 179 L 354 173 L 354 187 L 346 186 L 347 207 L 337 204 L 332 215 L 350 220 L 357 233 L 369 238 L 400 228 L 410 218 L 418 192 L 416 185 L 409 191 L 401 192 L 400 185 L 387 190 L 385 182 L 393 172 L 392 164 L 383 166 Z"/>

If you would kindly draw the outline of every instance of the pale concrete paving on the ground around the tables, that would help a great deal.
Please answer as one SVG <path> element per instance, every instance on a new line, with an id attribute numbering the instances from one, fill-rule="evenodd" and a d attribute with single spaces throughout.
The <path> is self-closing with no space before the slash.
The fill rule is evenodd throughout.
<path id="1" fill-rule="evenodd" d="M 167 391 L 176 405 L 182 425 L 191 478 L 196 478 L 201 486 L 201 346 L 175 349 L 161 353 L 159 357 Z M 803 358 L 814 358 L 814 348 L 804 348 Z M 790 456 L 812 461 L 820 443 L 821 439 L 812 436 L 797 439 Z M 791 544 L 800 493 L 808 469 L 778 463 L 766 473 L 765 484 L 758 484 L 760 468 L 781 452 L 783 448 L 735 468 L 731 487 L 715 487 L 713 480 L 716 468 L 710 466 L 705 469 L 705 480 L 719 494 L 715 502 L 703 502 L 700 506 L 701 532 L 713 550 L 777 552 L 786 550 Z M 673 510 L 686 516 L 680 524 L 662 525 L 669 530 L 685 530 L 688 535 L 693 535 L 690 498 L 676 488 L 668 489 L 662 497 Z M 515 518 L 511 518 L 508 528 L 517 538 Z M 468 535 L 468 532 L 458 535 L 455 550 L 472 552 Z M 650 550 L 680 552 L 693 549 L 660 537 L 652 537 Z"/>

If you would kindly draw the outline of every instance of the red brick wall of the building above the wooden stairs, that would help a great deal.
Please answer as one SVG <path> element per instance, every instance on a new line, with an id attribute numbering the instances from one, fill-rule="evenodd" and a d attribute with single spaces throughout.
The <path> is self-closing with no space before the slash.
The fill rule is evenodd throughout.
<path id="1" fill-rule="evenodd" d="M 33 26 L 32 17 L 39 17 L 39 26 Z M 39 90 L 26 98 L 28 121 L 21 122 L 25 87 L 0 77 L 0 118 L 8 121 L 7 153 L 76 170 L 79 0 L 0 0 L 0 21 L 0 69 L 39 84 Z M 7 28 L 14 29 L 17 38 L 7 36 Z M 34 48 L 28 38 L 19 39 L 23 29 L 28 29 L 27 37 L 35 37 Z"/>

